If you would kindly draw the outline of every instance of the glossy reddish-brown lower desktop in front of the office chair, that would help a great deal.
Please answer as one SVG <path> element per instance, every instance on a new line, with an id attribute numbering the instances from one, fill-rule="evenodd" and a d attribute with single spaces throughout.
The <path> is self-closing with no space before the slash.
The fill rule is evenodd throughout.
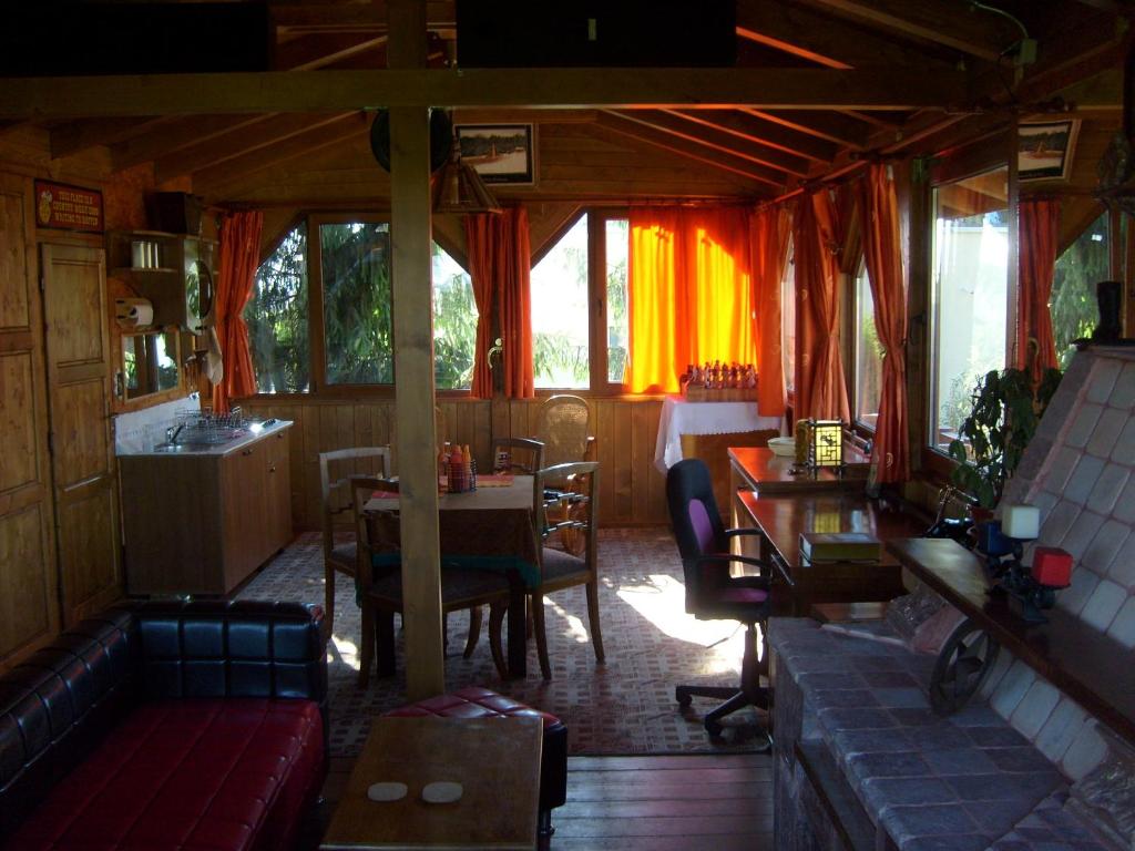
<path id="1" fill-rule="evenodd" d="M 800 532 L 866 532 L 885 541 L 922 534 L 926 524 L 909 514 L 861 494 L 797 494 L 773 496 L 740 490 L 749 519 L 758 525 L 785 564 L 800 565 Z M 741 525 L 745 525 L 741 517 Z M 883 565 L 897 565 L 884 551 Z"/>

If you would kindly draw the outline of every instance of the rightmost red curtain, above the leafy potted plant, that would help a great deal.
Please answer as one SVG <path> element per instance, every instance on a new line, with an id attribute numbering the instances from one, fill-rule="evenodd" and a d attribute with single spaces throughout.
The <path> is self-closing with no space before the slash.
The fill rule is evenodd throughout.
<path id="1" fill-rule="evenodd" d="M 1028 369 L 1033 379 L 1057 365 L 1049 297 L 1056 275 L 1057 241 L 1060 236 L 1060 202 L 1022 201 L 1020 217 L 1020 309 L 1017 314 L 1017 366 Z M 1035 354 L 1034 354 L 1035 352 Z"/>

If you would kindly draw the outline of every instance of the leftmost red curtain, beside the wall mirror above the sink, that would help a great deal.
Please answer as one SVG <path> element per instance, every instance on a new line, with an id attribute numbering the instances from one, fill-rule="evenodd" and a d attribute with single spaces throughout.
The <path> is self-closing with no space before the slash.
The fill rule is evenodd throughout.
<path id="1" fill-rule="evenodd" d="M 213 326 L 225 359 L 225 377 L 213 387 L 213 411 L 226 413 L 228 401 L 257 391 L 257 373 L 249 349 L 244 306 L 252 297 L 260 264 L 260 231 L 264 216 L 244 210 L 225 217 L 220 228 L 220 271 L 213 296 Z"/>

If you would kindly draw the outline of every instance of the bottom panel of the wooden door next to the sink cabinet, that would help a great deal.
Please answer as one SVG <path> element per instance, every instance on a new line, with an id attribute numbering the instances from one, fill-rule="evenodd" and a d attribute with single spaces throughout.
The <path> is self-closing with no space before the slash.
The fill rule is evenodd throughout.
<path id="1" fill-rule="evenodd" d="M 118 536 L 108 530 L 116 528 L 115 495 L 106 488 L 82 488 L 59 506 L 62 581 L 76 609 L 95 608 L 104 596 L 114 597 L 120 580 Z"/>

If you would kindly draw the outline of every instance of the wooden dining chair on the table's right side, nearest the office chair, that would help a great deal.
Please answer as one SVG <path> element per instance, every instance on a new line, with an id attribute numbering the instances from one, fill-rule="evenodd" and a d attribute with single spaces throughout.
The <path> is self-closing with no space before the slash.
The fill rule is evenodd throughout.
<path id="1" fill-rule="evenodd" d="M 571 477 L 578 488 L 578 511 L 572 516 L 561 520 L 549 520 L 545 506 L 545 482 L 560 481 Z M 537 554 L 539 559 L 540 584 L 529 589 L 529 608 L 532 614 L 536 649 L 540 658 L 540 674 L 545 680 L 552 679 L 552 664 L 548 659 L 548 639 L 544 622 L 544 597 L 564 588 L 587 585 L 587 617 L 591 630 L 591 643 L 595 647 L 596 662 L 603 663 L 603 631 L 599 626 L 599 564 L 598 564 L 598 488 L 599 463 L 597 461 L 578 461 L 572 464 L 555 464 L 540 470 L 532 481 L 532 533 L 537 537 Z M 583 555 L 577 556 L 553 547 L 545 546 L 549 536 L 560 531 L 573 531 L 583 542 Z M 490 639 L 499 640 L 499 630 L 490 630 Z M 493 655 L 501 654 L 499 647 L 494 647 Z"/>

